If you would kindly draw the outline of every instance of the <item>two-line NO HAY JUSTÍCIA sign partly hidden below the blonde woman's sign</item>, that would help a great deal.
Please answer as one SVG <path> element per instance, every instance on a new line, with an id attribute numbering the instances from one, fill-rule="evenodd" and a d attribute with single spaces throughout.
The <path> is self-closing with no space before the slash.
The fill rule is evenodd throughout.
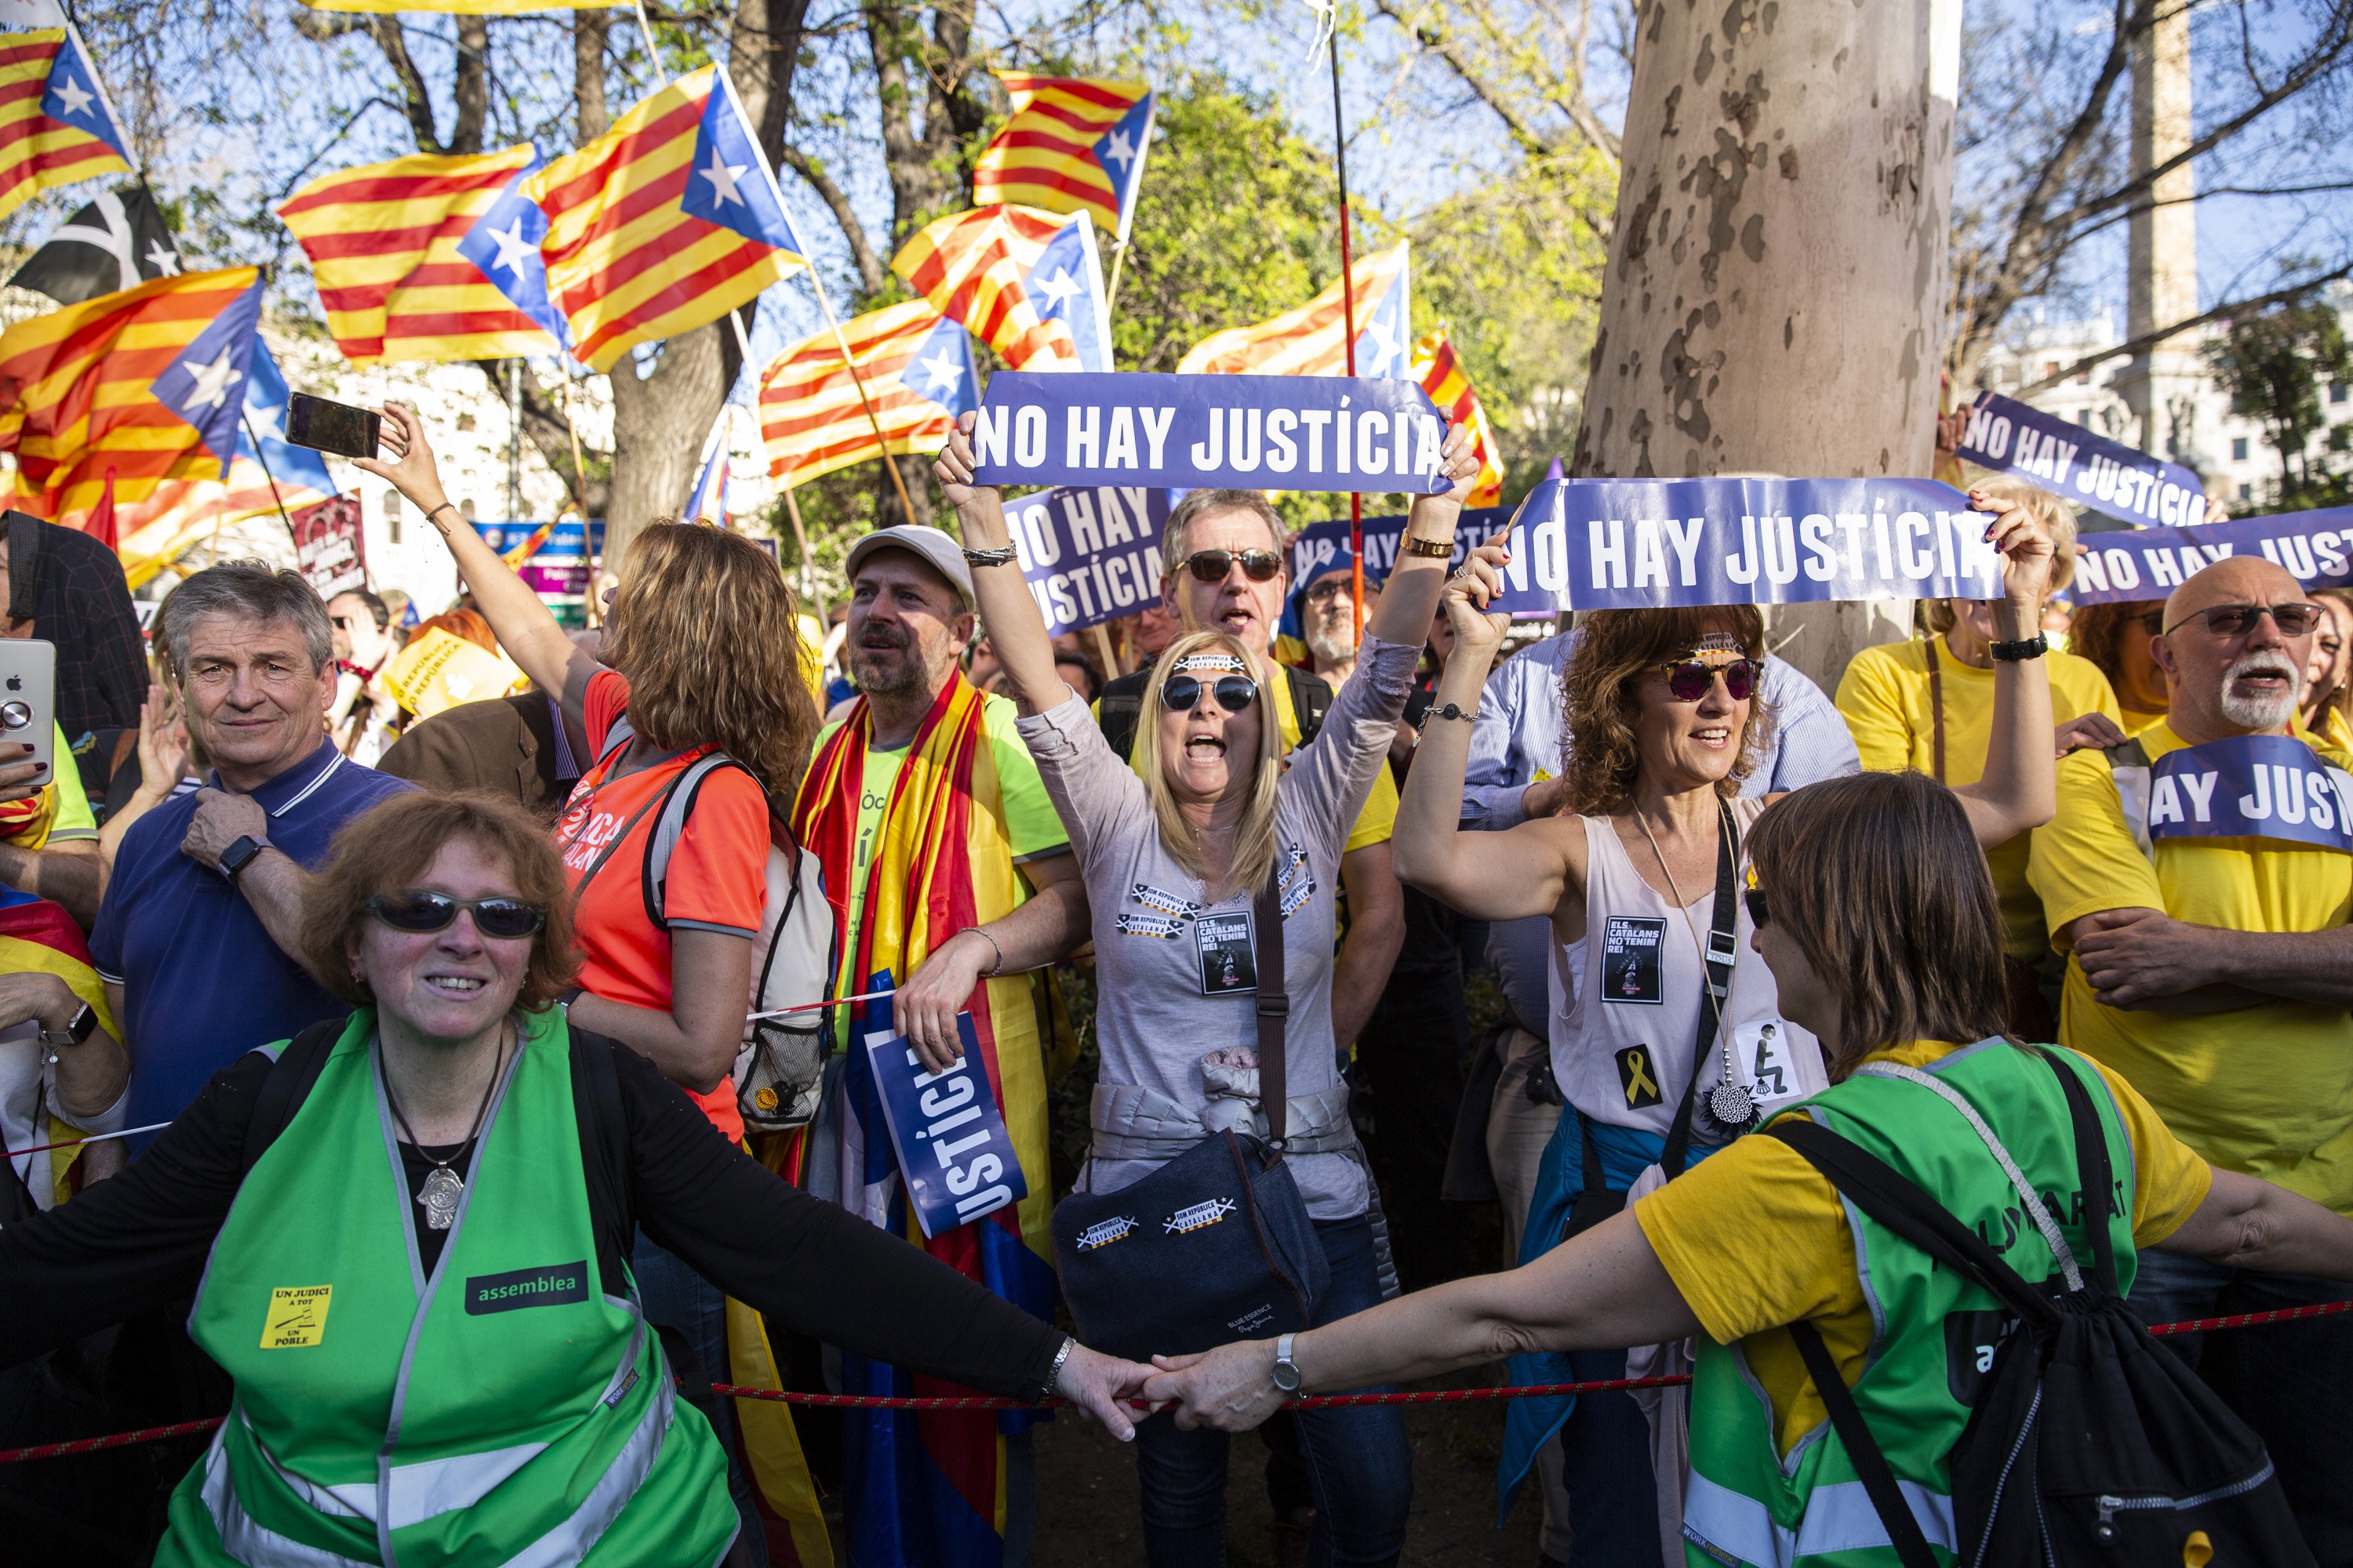
<path id="1" fill-rule="evenodd" d="M 1146 484 L 1042 489 L 1005 503 L 1021 576 L 1049 637 L 1160 602 L 1169 494 Z"/>

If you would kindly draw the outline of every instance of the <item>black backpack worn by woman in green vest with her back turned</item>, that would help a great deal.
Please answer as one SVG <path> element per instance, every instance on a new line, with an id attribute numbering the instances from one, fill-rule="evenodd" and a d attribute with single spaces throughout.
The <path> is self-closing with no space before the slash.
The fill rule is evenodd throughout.
<path id="1" fill-rule="evenodd" d="M 2085 1194 L 2092 1267 L 2066 1288 L 2031 1286 L 1974 1229 L 1875 1154 L 1805 1119 L 1765 1128 L 1821 1171 L 1847 1201 L 1939 1265 L 1991 1291 L 2017 1316 L 1993 1352 L 1969 1422 L 1953 1443 L 1953 1521 L 1965 1568 L 2184 1563 L 2198 1542 L 2214 1563 L 2311 1568 L 2264 1443 L 2148 1328 L 2115 1291 L 2108 1143 L 2082 1081 L 2031 1046 L 2066 1091 Z M 2017 1180 L 2017 1175 L 2012 1175 Z M 2021 1187 L 2024 1206 L 2047 1220 Z M 2042 1225 L 2059 1237 L 2057 1225 Z M 1854 1394 L 1812 1324 L 1791 1324 L 1807 1375 L 1831 1410 L 1904 1568 L 1937 1556 L 1897 1486 Z"/>

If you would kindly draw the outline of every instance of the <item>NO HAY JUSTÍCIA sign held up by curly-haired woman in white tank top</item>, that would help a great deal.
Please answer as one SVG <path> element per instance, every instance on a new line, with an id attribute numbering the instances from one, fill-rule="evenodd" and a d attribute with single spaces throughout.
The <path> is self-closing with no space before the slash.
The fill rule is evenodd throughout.
<path id="1" fill-rule="evenodd" d="M 1991 599 L 1991 522 L 1934 480 L 1546 480 L 1489 609 Z"/>

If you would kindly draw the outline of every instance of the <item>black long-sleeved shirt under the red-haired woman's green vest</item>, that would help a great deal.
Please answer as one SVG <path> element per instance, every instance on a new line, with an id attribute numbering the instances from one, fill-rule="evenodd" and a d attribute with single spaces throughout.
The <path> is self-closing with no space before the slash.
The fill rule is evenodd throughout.
<path id="1" fill-rule="evenodd" d="M 621 1159 L 598 1147 L 588 1112 L 598 1051 L 619 1077 Z M 0 1229 L 0 1366 L 195 1291 L 245 1178 L 245 1128 L 268 1070 L 266 1056 L 242 1056 L 122 1175 Z M 574 1030 L 572 1084 L 598 1269 L 612 1295 L 628 1293 L 621 1267 L 645 1227 L 781 1326 L 991 1394 L 1042 1387 L 1061 1349 L 1052 1324 L 779 1180 L 628 1046 Z M 407 1145 L 402 1161 L 414 1194 L 433 1166 Z M 416 1204 L 409 1218 L 431 1269 L 447 1234 L 428 1229 Z"/>

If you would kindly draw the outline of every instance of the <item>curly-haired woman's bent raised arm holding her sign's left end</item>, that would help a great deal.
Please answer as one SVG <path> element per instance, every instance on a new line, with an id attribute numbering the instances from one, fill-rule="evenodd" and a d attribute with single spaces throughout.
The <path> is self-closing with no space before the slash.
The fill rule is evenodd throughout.
<path id="1" fill-rule="evenodd" d="M 1391 837 L 1398 877 L 1471 919 L 1551 914 L 1567 896 L 1569 879 L 1584 882 L 1584 839 L 1562 832 L 1551 818 L 1501 832 L 1461 830 L 1464 769 L 1471 757 L 1468 715 L 1478 712 L 1487 665 L 1494 663 L 1494 651 L 1511 625 L 1511 616 L 1485 614 L 1504 585 L 1499 567 L 1506 559 L 1511 557 L 1501 543 L 1485 543 L 1447 583 L 1445 607 L 1454 628 L 1454 656 L 1438 677 L 1431 717 L 1414 750 L 1414 771 L 1405 776 L 1405 797 L 1398 802 L 1398 830 Z M 1466 717 L 1440 717 L 1447 708 Z M 1574 867 L 1572 853 L 1579 856 Z"/>

